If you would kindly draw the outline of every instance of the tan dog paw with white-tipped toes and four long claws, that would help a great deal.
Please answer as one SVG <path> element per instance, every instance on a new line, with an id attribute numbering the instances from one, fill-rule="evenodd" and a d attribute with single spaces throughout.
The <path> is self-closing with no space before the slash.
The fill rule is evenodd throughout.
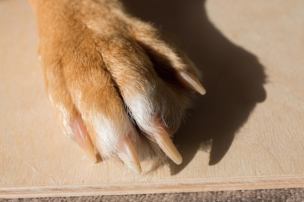
<path id="1" fill-rule="evenodd" d="M 187 57 L 117 1 L 32 4 L 47 91 L 65 134 L 93 162 L 95 152 L 119 156 L 135 173 L 159 148 L 180 164 L 171 137 L 193 90 L 205 93 Z"/>

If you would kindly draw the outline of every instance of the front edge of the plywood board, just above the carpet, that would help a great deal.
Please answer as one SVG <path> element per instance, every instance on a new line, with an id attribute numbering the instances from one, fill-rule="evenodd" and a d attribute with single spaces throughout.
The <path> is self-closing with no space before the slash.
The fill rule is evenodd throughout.
<path id="1" fill-rule="evenodd" d="M 304 175 L 183 179 L 158 182 L 121 182 L 0 187 L 0 198 L 39 198 L 304 187 Z"/>

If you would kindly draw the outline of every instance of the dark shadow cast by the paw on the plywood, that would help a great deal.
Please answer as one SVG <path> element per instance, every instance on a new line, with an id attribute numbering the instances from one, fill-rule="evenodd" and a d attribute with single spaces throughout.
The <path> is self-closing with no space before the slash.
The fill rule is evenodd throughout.
<path id="1" fill-rule="evenodd" d="M 198 98 L 186 125 L 174 136 L 183 163 L 171 164 L 171 174 L 182 171 L 202 149 L 210 149 L 209 165 L 217 164 L 256 103 L 266 99 L 263 66 L 214 27 L 204 0 L 124 1 L 135 16 L 155 22 L 171 34 L 203 72 L 207 93 Z"/>

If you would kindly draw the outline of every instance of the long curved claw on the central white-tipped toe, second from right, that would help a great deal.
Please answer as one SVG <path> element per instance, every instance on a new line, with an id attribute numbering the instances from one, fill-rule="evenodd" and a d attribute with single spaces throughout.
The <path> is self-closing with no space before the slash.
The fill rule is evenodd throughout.
<path id="1" fill-rule="evenodd" d="M 183 161 L 183 157 L 174 146 L 166 128 L 159 121 L 155 121 L 154 125 L 158 128 L 158 133 L 153 136 L 154 140 L 174 163 L 180 165 Z"/>

